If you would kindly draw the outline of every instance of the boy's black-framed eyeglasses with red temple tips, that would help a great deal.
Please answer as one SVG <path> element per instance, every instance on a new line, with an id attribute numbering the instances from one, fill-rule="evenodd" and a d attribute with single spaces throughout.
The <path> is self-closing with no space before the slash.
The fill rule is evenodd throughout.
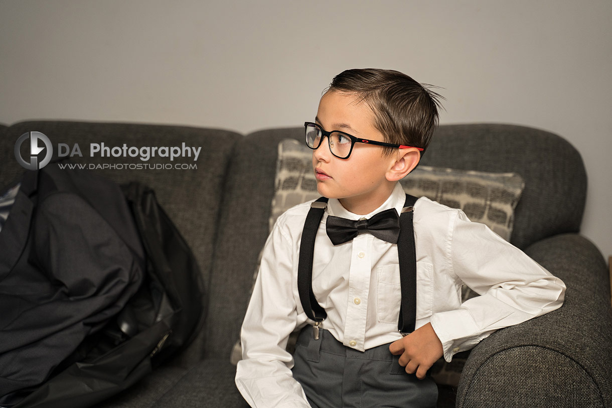
<path id="1" fill-rule="evenodd" d="M 353 135 L 349 135 L 345 132 L 340 132 L 340 130 L 332 130 L 331 132 L 326 132 L 323 130 L 323 127 L 319 126 L 316 123 L 305 122 L 304 129 L 306 134 L 306 145 L 316 150 L 321 146 L 321 142 L 323 138 L 327 136 L 327 143 L 329 143 L 329 151 L 338 159 L 348 159 L 351 156 L 351 152 L 353 151 L 353 146 L 355 143 L 366 143 L 367 145 L 377 145 L 377 146 L 388 146 L 398 149 L 409 149 L 413 146 L 405 146 L 405 145 L 394 145 L 392 143 L 378 142 L 378 140 L 369 140 L 354 137 Z M 423 148 L 416 148 L 419 151 L 423 151 Z"/>

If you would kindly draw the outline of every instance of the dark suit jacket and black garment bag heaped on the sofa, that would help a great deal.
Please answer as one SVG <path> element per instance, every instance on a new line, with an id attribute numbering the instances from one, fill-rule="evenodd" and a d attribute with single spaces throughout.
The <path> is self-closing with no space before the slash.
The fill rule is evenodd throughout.
<path id="1" fill-rule="evenodd" d="M 141 184 L 26 172 L 0 251 L 0 406 L 92 406 L 203 323 L 195 257 Z"/>

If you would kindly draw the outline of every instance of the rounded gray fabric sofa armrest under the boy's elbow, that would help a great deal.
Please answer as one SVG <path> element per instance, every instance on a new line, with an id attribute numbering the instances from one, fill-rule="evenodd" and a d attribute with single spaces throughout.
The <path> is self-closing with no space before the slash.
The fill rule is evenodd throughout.
<path id="1" fill-rule="evenodd" d="M 463 369 L 457 407 L 612 406 L 612 308 L 602 254 L 577 234 L 525 252 L 565 282 L 564 304 L 480 342 Z"/>

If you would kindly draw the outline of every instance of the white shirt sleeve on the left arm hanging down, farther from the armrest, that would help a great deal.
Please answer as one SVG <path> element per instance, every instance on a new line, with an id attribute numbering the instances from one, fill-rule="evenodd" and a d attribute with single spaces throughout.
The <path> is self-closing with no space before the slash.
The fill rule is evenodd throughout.
<path id="1" fill-rule="evenodd" d="M 279 222 L 264 247 L 242 323 L 243 360 L 237 365 L 236 386 L 252 407 L 309 408 L 302 386 L 293 379 L 293 357 L 285 350 L 299 322 L 292 280 L 295 250 Z"/>

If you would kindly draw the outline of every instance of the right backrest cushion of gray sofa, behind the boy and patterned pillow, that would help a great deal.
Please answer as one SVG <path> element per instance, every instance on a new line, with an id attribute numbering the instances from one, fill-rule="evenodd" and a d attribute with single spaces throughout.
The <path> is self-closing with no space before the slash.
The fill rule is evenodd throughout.
<path id="1" fill-rule="evenodd" d="M 301 141 L 303 132 L 301 127 L 254 132 L 233 154 L 212 265 L 205 355 L 228 355 L 239 338 L 258 255 L 268 235 L 277 145 L 284 138 Z M 580 229 L 586 173 L 580 154 L 558 135 L 504 124 L 440 126 L 422 164 L 523 176 L 511 237 L 522 249 Z"/>

